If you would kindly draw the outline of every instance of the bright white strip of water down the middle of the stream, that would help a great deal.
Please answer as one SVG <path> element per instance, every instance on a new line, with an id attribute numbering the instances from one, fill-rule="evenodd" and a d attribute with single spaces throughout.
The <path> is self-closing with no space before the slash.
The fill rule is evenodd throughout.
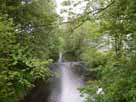
<path id="1" fill-rule="evenodd" d="M 71 64 L 65 63 L 61 66 L 61 100 L 60 102 L 83 102 L 80 97 L 78 88 L 82 85 L 82 81 L 71 70 Z"/>

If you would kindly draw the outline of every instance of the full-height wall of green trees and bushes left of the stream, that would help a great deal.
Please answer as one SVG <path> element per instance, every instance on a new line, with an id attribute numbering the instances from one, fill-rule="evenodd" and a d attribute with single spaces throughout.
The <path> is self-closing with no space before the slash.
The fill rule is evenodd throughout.
<path id="1" fill-rule="evenodd" d="M 56 20 L 51 0 L 0 1 L 0 102 L 17 102 L 36 80 L 50 77 Z"/>

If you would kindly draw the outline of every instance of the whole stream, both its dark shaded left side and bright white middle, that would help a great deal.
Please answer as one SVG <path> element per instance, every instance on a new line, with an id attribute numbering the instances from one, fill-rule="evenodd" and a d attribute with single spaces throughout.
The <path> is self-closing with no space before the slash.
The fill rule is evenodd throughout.
<path id="1" fill-rule="evenodd" d="M 79 77 L 82 68 L 79 62 L 62 62 L 59 53 L 58 63 L 50 66 L 54 77 L 48 81 L 36 82 L 34 87 L 20 102 L 83 102 L 78 88 L 83 85 Z"/>

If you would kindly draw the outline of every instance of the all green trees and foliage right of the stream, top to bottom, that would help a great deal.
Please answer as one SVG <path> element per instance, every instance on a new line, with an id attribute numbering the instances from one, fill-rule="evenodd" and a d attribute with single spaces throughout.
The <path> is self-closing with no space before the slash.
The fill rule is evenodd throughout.
<path id="1" fill-rule="evenodd" d="M 96 75 L 94 80 L 87 78 L 81 93 L 87 94 L 86 102 L 135 102 L 136 1 L 83 2 L 87 4 L 83 13 L 77 15 L 72 8 L 67 11 L 74 22 L 69 24 L 73 36 L 80 35 L 73 40 L 82 39 L 75 42 L 82 46 L 74 51 L 81 52 L 77 56 L 86 63 L 87 72 Z M 63 4 L 76 7 L 83 2 Z"/>

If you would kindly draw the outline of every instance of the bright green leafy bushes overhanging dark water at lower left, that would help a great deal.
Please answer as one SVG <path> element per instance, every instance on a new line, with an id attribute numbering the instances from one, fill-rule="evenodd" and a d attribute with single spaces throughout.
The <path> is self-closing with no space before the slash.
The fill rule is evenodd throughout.
<path id="1" fill-rule="evenodd" d="M 50 76 L 48 61 L 34 59 L 27 48 L 17 43 L 12 19 L 0 19 L 0 101 L 13 102 L 21 97 L 21 92 L 32 87 L 36 79 Z"/>

